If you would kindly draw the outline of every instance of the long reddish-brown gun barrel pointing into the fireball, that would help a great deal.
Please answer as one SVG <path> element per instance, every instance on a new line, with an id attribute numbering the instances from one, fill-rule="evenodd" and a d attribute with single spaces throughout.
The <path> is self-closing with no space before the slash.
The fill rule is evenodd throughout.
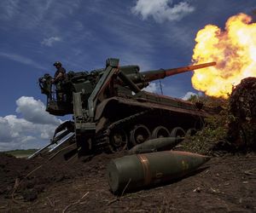
<path id="1" fill-rule="evenodd" d="M 146 82 L 151 82 L 160 78 L 166 78 L 168 76 L 173 76 L 179 73 L 189 72 L 189 71 L 205 68 L 208 66 L 215 66 L 215 65 L 216 65 L 216 62 L 209 62 L 209 63 L 199 64 L 194 66 L 183 66 L 183 67 L 172 68 L 172 69 L 146 71 L 146 72 L 142 72 L 142 75 Z"/>

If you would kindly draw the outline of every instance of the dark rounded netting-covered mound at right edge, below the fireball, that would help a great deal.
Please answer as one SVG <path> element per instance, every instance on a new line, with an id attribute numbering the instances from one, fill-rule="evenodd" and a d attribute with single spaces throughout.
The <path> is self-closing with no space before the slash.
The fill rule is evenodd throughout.
<path id="1" fill-rule="evenodd" d="M 256 149 L 256 78 L 245 78 L 230 95 L 229 136 L 238 147 Z"/>

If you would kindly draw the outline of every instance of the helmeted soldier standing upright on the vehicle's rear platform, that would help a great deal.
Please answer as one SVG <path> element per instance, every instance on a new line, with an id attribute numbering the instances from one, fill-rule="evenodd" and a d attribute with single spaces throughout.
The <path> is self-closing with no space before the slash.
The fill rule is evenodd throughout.
<path id="1" fill-rule="evenodd" d="M 54 66 L 56 67 L 55 77 L 52 79 L 51 83 L 55 84 L 55 90 L 56 90 L 56 98 L 57 101 L 63 101 L 63 89 L 61 89 L 61 84 L 63 80 L 65 79 L 66 70 L 62 67 L 60 61 L 56 61 L 54 63 Z"/>

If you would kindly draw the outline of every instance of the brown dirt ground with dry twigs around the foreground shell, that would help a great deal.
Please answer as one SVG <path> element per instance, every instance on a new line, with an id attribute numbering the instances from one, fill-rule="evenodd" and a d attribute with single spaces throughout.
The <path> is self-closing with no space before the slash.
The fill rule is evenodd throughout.
<path id="1" fill-rule="evenodd" d="M 213 157 L 165 186 L 115 196 L 106 165 L 119 154 L 63 163 L 0 155 L 0 212 L 256 212 L 256 153 Z"/>

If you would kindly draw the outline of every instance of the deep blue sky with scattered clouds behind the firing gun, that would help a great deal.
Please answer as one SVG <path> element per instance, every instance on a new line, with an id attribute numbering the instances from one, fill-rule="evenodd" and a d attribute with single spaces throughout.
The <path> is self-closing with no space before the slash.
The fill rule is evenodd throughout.
<path id="1" fill-rule="evenodd" d="M 108 57 L 143 71 L 186 66 L 196 32 L 207 24 L 224 27 L 231 15 L 253 9 L 255 0 L 2 0 L 0 151 L 41 147 L 60 124 L 44 112 L 37 84 L 45 72 L 54 74 L 55 60 L 67 71 L 102 68 Z M 164 95 L 197 93 L 190 78 L 163 80 Z"/>

